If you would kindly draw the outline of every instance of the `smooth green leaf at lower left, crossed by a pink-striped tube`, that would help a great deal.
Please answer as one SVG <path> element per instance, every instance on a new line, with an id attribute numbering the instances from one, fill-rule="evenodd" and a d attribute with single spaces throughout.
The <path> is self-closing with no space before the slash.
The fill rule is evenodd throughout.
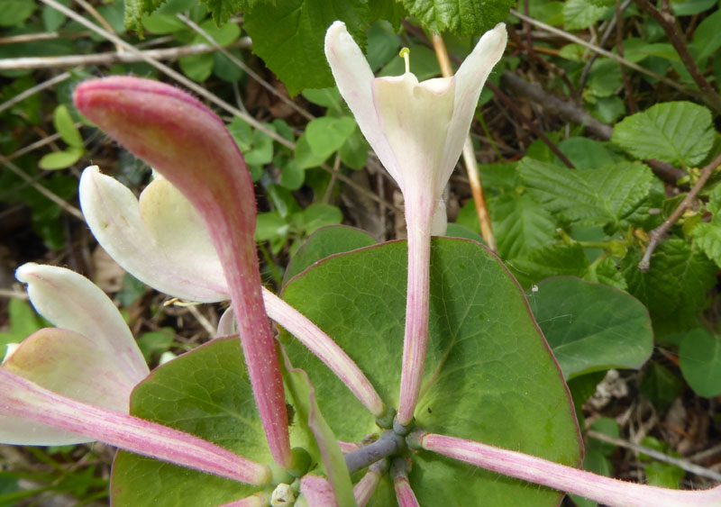
<path id="1" fill-rule="evenodd" d="M 214 340 L 154 370 L 135 388 L 131 414 L 272 462 L 238 339 Z M 214 506 L 260 489 L 123 451 L 111 479 L 115 505 Z"/>

